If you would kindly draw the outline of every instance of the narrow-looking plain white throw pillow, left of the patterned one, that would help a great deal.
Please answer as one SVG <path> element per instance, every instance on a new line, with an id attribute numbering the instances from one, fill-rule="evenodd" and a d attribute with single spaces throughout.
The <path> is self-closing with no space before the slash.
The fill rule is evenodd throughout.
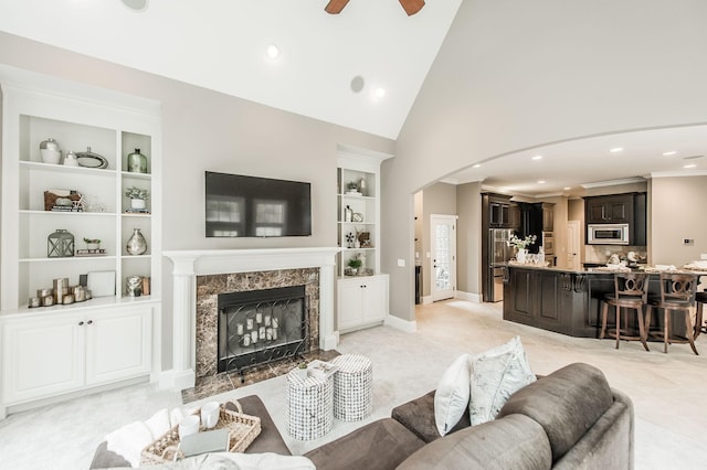
<path id="1" fill-rule="evenodd" d="M 471 393 L 469 355 L 462 354 L 444 371 L 434 393 L 434 423 L 440 436 L 446 435 L 462 419 Z"/>

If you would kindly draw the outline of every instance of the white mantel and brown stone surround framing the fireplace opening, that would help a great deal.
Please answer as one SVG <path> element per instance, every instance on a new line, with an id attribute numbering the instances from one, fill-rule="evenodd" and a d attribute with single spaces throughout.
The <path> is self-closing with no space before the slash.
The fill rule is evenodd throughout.
<path id="1" fill-rule="evenodd" d="M 309 349 L 334 350 L 339 342 L 334 328 L 335 255 L 339 249 L 162 252 L 173 264 L 173 323 L 172 370 L 160 377 L 161 386 L 186 389 L 193 387 L 200 377 L 228 375 L 219 374 L 217 366 L 219 293 L 304 284 Z"/>

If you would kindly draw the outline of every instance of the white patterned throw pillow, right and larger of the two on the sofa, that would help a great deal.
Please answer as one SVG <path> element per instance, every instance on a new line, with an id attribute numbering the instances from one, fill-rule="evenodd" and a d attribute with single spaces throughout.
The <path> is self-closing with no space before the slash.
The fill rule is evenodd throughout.
<path id="1" fill-rule="evenodd" d="M 472 357 L 471 370 L 472 426 L 494 419 L 510 395 L 536 381 L 519 337 Z"/>

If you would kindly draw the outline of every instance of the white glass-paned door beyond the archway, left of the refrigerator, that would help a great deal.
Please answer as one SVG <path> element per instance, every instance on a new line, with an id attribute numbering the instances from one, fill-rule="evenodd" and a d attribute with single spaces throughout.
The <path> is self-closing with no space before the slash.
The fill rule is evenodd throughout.
<path id="1" fill-rule="evenodd" d="M 456 215 L 430 216 L 432 301 L 451 299 L 456 290 Z"/>

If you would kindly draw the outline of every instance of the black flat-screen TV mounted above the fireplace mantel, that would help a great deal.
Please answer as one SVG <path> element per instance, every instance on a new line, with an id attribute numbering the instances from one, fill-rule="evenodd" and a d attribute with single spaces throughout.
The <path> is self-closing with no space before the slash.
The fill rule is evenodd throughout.
<path id="1" fill-rule="evenodd" d="M 312 235 L 312 184 L 205 172 L 207 237 Z"/>

